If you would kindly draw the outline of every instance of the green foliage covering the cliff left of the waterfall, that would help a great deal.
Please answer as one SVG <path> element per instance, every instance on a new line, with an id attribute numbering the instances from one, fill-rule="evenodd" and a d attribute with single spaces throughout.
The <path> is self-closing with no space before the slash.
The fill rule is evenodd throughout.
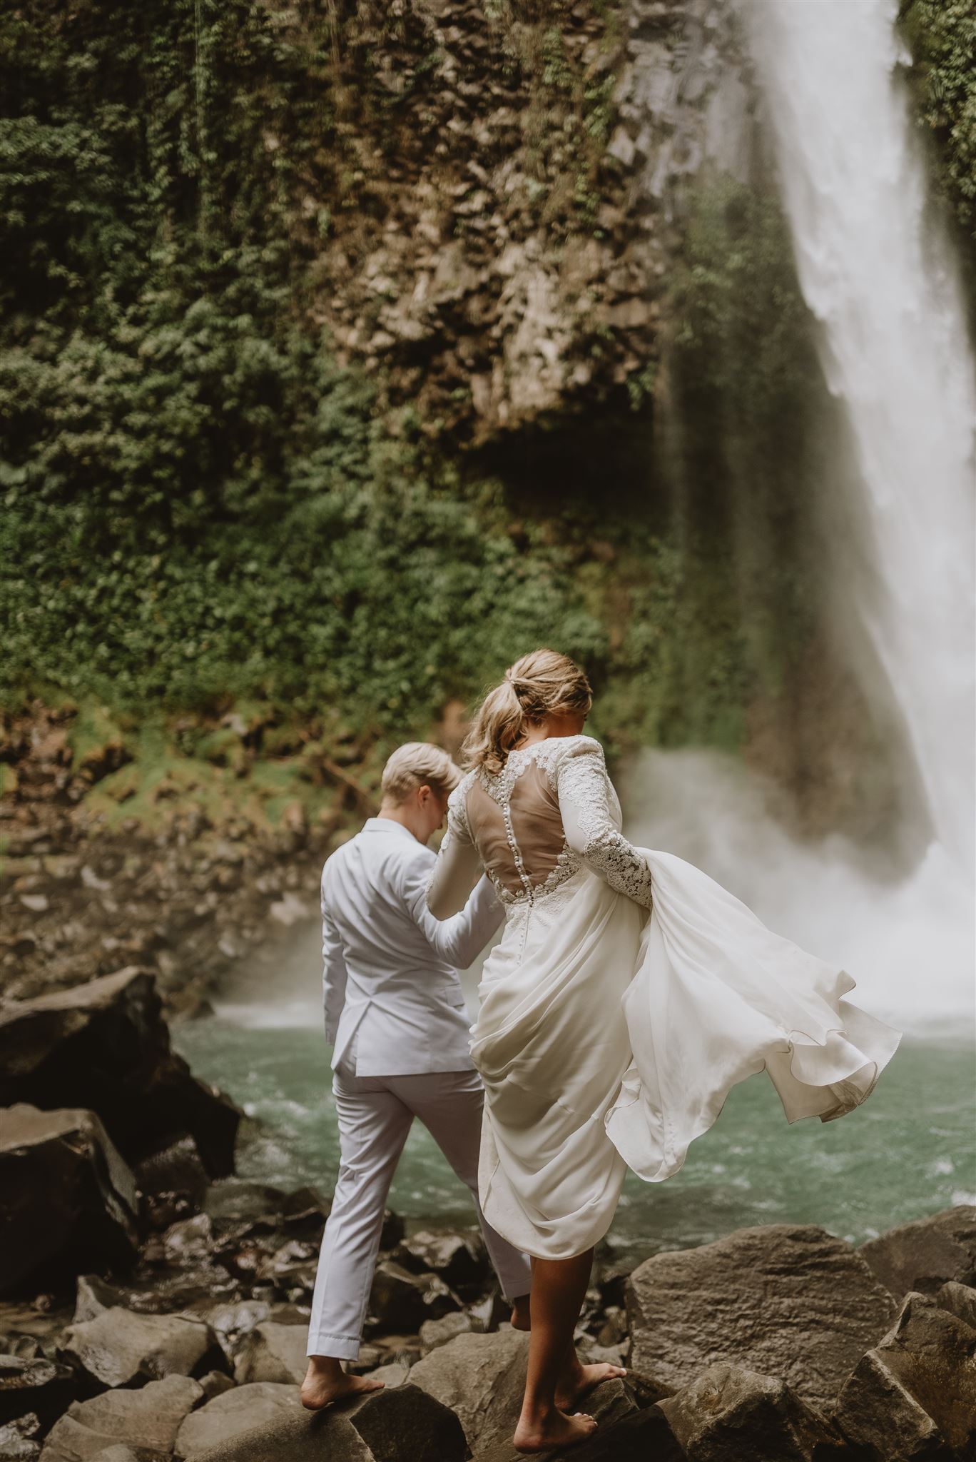
<path id="1" fill-rule="evenodd" d="M 321 238 L 371 206 L 339 120 L 338 53 L 355 42 L 370 69 L 358 15 L 260 0 L 0 13 L 0 696 L 95 697 L 142 728 L 134 760 L 99 782 L 118 816 L 158 788 L 232 795 L 240 744 L 213 732 L 177 775 L 142 734 L 156 712 L 272 703 L 324 741 L 383 740 L 425 731 L 538 643 L 587 664 L 608 738 L 735 744 L 801 620 L 783 463 L 807 430 L 809 361 L 792 354 L 804 320 L 783 237 L 754 200 L 712 197 L 693 225 L 672 370 L 694 440 L 668 463 L 674 515 L 643 522 L 625 493 L 545 510 L 462 480 L 425 458 L 415 412 L 384 415 L 339 364 L 310 306 Z M 612 75 L 574 69 L 545 6 L 520 35 L 539 173 L 564 186 L 530 181 L 557 232 L 592 227 Z M 384 108 L 390 149 L 396 105 L 362 101 Z M 657 386 L 633 371 L 636 412 Z M 782 550 L 763 594 L 744 580 L 766 558 L 729 548 L 748 522 Z M 304 775 L 264 788 L 269 816 Z"/>

